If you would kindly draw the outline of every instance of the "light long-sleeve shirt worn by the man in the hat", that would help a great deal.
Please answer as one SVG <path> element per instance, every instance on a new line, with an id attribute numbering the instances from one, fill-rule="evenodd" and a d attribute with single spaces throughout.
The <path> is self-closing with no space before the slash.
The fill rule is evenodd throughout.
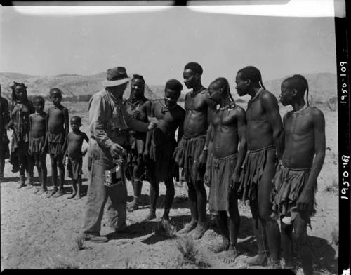
<path id="1" fill-rule="evenodd" d="M 147 123 L 134 119 L 126 112 L 122 102 L 112 100 L 113 95 L 101 90 L 89 101 L 89 129 L 91 137 L 101 147 L 110 149 L 114 143 L 124 145 L 128 130 L 147 131 Z"/>

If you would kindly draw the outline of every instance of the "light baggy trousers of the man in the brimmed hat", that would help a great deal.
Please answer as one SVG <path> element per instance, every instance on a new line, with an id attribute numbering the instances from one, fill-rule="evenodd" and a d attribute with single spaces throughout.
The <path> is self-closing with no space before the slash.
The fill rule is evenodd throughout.
<path id="1" fill-rule="evenodd" d="M 126 182 L 114 187 L 107 187 L 103 184 L 105 170 L 110 170 L 113 165 L 112 156 L 107 149 L 102 149 L 93 139 L 89 141 L 88 154 L 91 156 L 92 163 L 81 233 L 86 236 L 100 234 L 106 203 L 110 227 L 118 230 L 124 229 L 128 196 Z"/>

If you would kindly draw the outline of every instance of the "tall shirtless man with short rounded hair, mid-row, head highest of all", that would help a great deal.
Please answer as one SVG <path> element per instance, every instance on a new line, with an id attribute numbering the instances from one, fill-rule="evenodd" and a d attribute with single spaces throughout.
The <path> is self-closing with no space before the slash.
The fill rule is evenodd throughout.
<path id="1" fill-rule="evenodd" d="M 191 232 L 199 239 L 206 232 L 206 189 L 204 172 L 206 151 L 204 145 L 208 129 L 208 109 L 214 109 L 208 99 L 208 90 L 201 84 L 202 67 L 196 62 L 185 65 L 183 78 L 192 91 L 185 96 L 184 135 L 176 149 L 176 162 L 183 168 L 182 178 L 187 182 L 192 220 L 180 230 L 180 234 Z"/>

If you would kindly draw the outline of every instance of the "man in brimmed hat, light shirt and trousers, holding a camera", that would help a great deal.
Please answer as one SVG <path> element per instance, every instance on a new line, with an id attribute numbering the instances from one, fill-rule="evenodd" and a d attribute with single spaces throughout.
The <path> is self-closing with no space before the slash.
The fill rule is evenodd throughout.
<path id="1" fill-rule="evenodd" d="M 155 123 L 138 121 L 126 112 L 122 100 L 128 81 L 124 67 L 108 69 L 106 80 L 102 82 L 105 89 L 89 101 L 91 139 L 88 152 L 91 163 L 88 168 L 91 168 L 91 173 L 81 234 L 84 239 L 98 243 L 108 241 L 106 236 L 100 236 L 106 202 L 110 225 L 115 232 L 123 232 L 127 227 L 125 180 L 122 184 L 106 186 L 106 172 L 112 169 L 114 159 L 123 154 L 129 130 L 147 132 L 156 126 Z"/>

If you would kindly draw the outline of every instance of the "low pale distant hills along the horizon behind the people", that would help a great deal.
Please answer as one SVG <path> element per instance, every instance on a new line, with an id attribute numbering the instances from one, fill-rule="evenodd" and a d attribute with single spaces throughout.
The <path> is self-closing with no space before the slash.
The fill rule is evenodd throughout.
<path id="1" fill-rule="evenodd" d="M 319 73 L 319 74 L 305 74 L 304 75 L 310 86 L 310 99 L 314 101 L 328 100 L 336 96 L 336 74 Z M 27 91 L 29 95 L 48 95 L 51 88 L 57 87 L 62 90 L 64 97 L 79 96 L 79 95 L 93 95 L 102 88 L 101 82 L 105 79 L 106 73 L 93 74 L 90 76 L 83 76 L 79 74 L 59 74 L 56 76 L 30 76 L 27 74 L 18 74 L 13 72 L 0 73 L 1 94 L 6 98 L 11 98 L 11 88 L 13 81 L 23 82 L 28 86 Z M 275 79 L 272 81 L 264 81 L 267 90 L 270 90 L 274 95 L 280 94 L 280 86 L 285 79 Z M 128 98 L 130 88 L 126 89 L 124 95 Z M 234 87 L 232 87 L 234 95 Z M 163 98 L 164 85 L 146 85 L 145 96 L 150 99 Z M 182 98 L 183 98 L 182 94 Z M 237 99 L 237 95 L 234 95 Z M 311 100 L 312 101 L 312 100 Z"/>

